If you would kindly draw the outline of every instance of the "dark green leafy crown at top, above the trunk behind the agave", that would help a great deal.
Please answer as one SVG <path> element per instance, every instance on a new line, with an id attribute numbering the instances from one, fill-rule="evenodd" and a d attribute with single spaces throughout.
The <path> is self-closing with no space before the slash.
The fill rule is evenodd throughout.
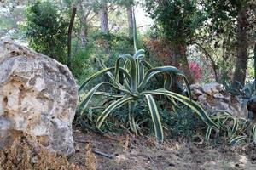
<path id="1" fill-rule="evenodd" d="M 195 36 L 205 15 L 197 8 L 197 1 L 146 1 L 147 12 L 160 25 L 160 31 L 172 42 L 186 44 Z"/>

